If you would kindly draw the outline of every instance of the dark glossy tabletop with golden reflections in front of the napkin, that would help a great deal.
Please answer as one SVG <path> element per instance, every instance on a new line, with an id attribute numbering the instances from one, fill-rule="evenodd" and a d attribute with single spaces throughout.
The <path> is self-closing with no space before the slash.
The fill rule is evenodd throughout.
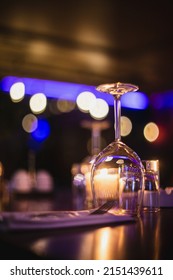
<path id="1" fill-rule="evenodd" d="M 136 222 L 0 233 L 1 259 L 173 260 L 173 208 Z"/>

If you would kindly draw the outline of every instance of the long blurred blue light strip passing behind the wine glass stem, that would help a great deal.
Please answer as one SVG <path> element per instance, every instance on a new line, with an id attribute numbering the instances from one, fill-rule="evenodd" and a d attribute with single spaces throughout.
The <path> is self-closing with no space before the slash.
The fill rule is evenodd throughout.
<path id="1" fill-rule="evenodd" d="M 42 92 L 48 98 L 66 99 L 75 102 L 81 92 L 90 91 L 97 98 L 104 99 L 110 106 L 113 106 L 114 103 L 110 94 L 98 92 L 95 86 L 69 82 L 7 76 L 1 81 L 1 90 L 9 92 L 11 86 L 16 82 L 23 82 L 25 93 L 29 95 Z M 144 110 L 148 107 L 148 97 L 142 92 L 127 93 L 122 96 L 122 107 Z"/>

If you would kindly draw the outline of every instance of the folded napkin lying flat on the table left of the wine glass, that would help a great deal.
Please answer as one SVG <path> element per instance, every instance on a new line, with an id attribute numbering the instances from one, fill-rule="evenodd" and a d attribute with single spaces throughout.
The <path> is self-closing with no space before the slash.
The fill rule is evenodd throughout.
<path id="1" fill-rule="evenodd" d="M 58 229 L 132 221 L 135 219 L 129 215 L 109 212 L 101 215 L 89 215 L 89 211 L 3 212 L 0 215 L 0 231 Z"/>

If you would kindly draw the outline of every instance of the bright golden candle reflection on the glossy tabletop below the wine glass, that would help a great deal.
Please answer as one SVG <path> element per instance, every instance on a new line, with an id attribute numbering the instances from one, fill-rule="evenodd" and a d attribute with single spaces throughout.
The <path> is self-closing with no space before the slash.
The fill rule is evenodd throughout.
<path id="1" fill-rule="evenodd" d="M 125 259 L 129 235 L 133 232 L 126 225 L 102 227 L 94 232 L 88 232 L 80 240 L 79 259 L 113 260 Z M 128 238 L 127 238 L 128 237 Z M 84 258 L 85 256 L 85 258 Z"/>

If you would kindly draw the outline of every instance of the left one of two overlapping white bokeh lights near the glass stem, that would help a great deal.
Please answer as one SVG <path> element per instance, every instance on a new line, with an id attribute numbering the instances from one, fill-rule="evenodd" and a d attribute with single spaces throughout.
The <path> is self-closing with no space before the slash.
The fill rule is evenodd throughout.
<path id="1" fill-rule="evenodd" d="M 92 92 L 84 91 L 78 95 L 76 103 L 79 110 L 81 110 L 82 112 L 89 112 L 95 99 L 96 97 Z"/>

